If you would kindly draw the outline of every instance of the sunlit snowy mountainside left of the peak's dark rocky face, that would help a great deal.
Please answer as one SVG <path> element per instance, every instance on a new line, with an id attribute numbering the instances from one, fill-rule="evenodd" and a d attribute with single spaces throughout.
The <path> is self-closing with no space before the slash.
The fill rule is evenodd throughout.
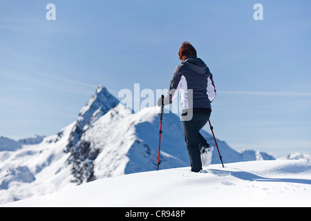
<path id="1" fill-rule="evenodd" d="M 0 152 L 0 204 L 75 186 L 64 153 L 73 125 L 39 144 Z"/>

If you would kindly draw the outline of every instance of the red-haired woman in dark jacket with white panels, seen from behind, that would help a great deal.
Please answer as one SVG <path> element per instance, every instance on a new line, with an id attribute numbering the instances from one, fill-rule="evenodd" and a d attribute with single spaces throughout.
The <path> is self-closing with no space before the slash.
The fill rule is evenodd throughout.
<path id="1" fill-rule="evenodd" d="M 211 154 L 212 151 L 212 147 L 199 131 L 209 120 L 211 102 L 216 97 L 216 90 L 209 68 L 197 57 L 194 46 L 185 41 L 178 55 L 182 63 L 174 70 L 169 93 L 164 97 L 164 105 L 171 104 L 180 92 L 182 127 L 191 171 L 199 172 L 202 170 L 201 157 L 206 158 L 207 153 Z M 158 106 L 161 106 L 161 99 L 158 100 Z"/>

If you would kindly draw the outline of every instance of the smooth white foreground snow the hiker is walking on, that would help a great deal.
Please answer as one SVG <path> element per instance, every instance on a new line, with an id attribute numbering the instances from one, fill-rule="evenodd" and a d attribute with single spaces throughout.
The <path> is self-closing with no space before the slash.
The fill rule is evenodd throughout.
<path id="1" fill-rule="evenodd" d="M 108 177 L 2 206 L 311 206 L 308 160 L 211 164 Z"/>

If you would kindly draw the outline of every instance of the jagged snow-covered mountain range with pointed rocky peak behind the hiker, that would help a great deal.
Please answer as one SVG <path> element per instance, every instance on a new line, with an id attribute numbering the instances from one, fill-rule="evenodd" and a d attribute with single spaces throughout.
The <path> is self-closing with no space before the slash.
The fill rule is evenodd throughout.
<path id="1" fill-rule="evenodd" d="M 156 170 L 159 112 L 151 107 L 133 113 L 99 86 L 77 120 L 56 135 L 19 142 L 0 137 L 0 204 L 104 177 Z M 180 117 L 165 113 L 162 131 L 160 169 L 188 166 Z M 202 135 L 214 145 L 209 133 Z M 225 164 L 274 160 L 267 153 L 237 152 L 223 141 L 217 143 Z M 220 163 L 216 148 L 211 163 Z"/>

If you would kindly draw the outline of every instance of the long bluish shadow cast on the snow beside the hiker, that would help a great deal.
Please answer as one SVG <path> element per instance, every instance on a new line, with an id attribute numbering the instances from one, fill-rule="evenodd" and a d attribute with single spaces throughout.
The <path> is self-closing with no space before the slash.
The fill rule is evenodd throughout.
<path id="1" fill-rule="evenodd" d="M 307 179 L 295 179 L 295 178 L 271 178 L 256 175 L 254 173 L 246 171 L 222 171 L 217 169 L 208 169 L 208 172 L 214 173 L 219 176 L 232 175 L 241 180 L 258 181 L 258 182 L 292 182 L 299 184 L 311 184 L 311 180 Z"/>

